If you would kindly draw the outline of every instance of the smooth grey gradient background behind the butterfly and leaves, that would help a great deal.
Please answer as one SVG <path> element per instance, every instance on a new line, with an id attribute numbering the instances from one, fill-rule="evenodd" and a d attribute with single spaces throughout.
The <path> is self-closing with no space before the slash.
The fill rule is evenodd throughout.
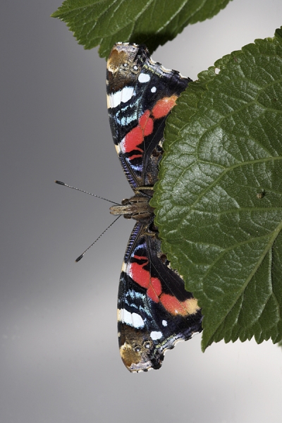
<path id="1" fill-rule="evenodd" d="M 118 354 L 116 295 L 133 222 L 120 219 L 75 257 L 131 194 L 111 140 L 105 61 L 49 18 L 60 2 L 1 6 L 0 422 L 282 421 L 282 351 L 271 342 L 202 354 L 200 336 L 159 371 L 130 374 Z M 282 24 L 281 0 L 234 0 L 153 58 L 192 79 Z"/>

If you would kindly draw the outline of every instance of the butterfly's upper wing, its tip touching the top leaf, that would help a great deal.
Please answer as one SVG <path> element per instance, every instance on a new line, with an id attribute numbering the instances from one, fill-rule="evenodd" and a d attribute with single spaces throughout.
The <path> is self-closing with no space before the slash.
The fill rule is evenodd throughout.
<path id="1" fill-rule="evenodd" d="M 106 85 L 109 121 L 133 188 L 156 182 L 158 152 L 154 150 L 163 138 L 166 117 L 188 81 L 152 61 L 144 45 L 118 43 L 112 49 Z"/>

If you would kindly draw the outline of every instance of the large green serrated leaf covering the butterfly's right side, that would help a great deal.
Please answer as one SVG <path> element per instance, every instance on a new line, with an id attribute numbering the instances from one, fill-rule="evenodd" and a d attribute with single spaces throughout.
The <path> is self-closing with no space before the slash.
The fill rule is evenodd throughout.
<path id="1" fill-rule="evenodd" d="M 202 349 L 281 341 L 281 29 L 224 56 L 179 100 L 152 205 L 162 249 L 202 307 Z"/>

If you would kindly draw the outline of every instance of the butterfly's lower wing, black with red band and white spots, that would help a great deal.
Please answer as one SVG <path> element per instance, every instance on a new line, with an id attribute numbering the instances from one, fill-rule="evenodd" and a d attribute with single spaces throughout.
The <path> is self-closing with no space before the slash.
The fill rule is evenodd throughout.
<path id="1" fill-rule="evenodd" d="M 118 290 L 118 342 L 130 372 L 159 369 L 164 352 L 202 331 L 197 300 L 169 268 L 157 235 L 136 223 Z"/>

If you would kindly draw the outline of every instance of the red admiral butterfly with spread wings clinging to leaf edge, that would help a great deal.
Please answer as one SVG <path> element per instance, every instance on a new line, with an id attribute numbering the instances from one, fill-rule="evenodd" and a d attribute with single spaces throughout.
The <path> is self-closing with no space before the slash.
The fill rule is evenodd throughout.
<path id="1" fill-rule="evenodd" d="M 159 369 L 166 350 L 202 330 L 197 300 L 161 253 L 149 205 L 157 181 L 166 117 L 189 78 L 149 56 L 144 45 L 118 43 L 107 62 L 111 132 L 135 195 L 111 214 L 137 221 L 125 251 L 118 289 L 118 341 L 130 372 Z"/>

